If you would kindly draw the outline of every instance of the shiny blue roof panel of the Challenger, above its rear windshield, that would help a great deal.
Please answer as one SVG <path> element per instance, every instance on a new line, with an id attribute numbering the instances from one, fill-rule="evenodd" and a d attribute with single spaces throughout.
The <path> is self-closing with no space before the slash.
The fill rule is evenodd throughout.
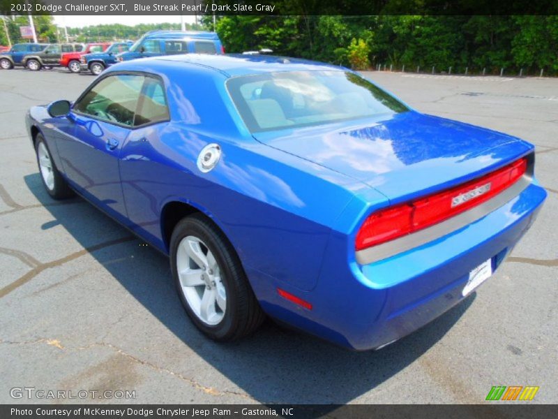
<path id="1" fill-rule="evenodd" d="M 259 73 L 275 73 L 278 71 L 347 71 L 346 68 L 331 64 L 296 59 L 277 57 L 274 55 L 246 55 L 246 54 L 178 54 L 165 55 L 148 59 L 149 61 L 174 61 L 176 64 L 197 64 L 206 68 L 220 71 L 228 77 L 251 75 Z M 147 60 L 142 64 L 146 64 Z M 131 61 L 133 62 L 133 61 Z"/>

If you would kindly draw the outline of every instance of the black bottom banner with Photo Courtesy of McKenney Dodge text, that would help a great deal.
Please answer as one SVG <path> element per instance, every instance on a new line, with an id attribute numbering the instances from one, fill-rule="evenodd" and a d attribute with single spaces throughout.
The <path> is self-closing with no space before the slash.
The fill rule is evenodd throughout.
<path id="1" fill-rule="evenodd" d="M 3 405 L 0 417 L 30 419 L 250 419 L 250 418 L 556 418 L 557 405 L 531 402 L 499 402 L 482 405 L 317 405 L 317 404 L 191 404 L 191 405 Z"/>

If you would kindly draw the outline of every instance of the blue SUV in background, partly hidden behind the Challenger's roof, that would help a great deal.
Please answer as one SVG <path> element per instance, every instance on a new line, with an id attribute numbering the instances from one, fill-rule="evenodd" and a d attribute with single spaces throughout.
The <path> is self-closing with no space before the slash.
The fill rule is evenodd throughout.
<path id="1" fill-rule="evenodd" d="M 174 54 L 224 54 L 225 49 L 215 32 L 151 31 L 140 38 L 117 61 Z"/>

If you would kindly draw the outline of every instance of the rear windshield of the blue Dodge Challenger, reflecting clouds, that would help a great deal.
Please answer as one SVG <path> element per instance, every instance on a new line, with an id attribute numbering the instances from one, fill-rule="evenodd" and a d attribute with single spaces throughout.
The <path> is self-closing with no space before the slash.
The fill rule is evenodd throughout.
<path id="1" fill-rule="evenodd" d="M 252 132 L 329 124 L 409 110 L 368 80 L 342 71 L 241 76 L 229 94 Z"/>

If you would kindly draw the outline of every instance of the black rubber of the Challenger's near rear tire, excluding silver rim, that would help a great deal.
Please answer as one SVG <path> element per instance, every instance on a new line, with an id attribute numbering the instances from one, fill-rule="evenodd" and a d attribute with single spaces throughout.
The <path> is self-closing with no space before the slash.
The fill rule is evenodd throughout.
<path id="1" fill-rule="evenodd" d="M 199 237 L 213 253 L 225 286 L 227 305 L 220 323 L 207 325 L 194 313 L 184 296 L 177 272 L 176 253 L 186 236 Z M 234 341 L 249 335 L 262 324 L 265 314 L 248 283 L 236 251 L 223 232 L 203 214 L 182 219 L 174 228 L 170 242 L 170 265 L 176 291 L 190 319 L 206 336 L 215 341 Z"/>

